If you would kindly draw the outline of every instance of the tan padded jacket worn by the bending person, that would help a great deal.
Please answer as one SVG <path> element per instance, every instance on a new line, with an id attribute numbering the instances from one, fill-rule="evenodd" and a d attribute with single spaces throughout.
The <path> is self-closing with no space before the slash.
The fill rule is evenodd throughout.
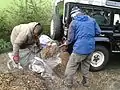
<path id="1" fill-rule="evenodd" d="M 28 24 L 20 24 L 13 28 L 11 33 L 11 43 L 13 45 L 14 55 L 19 53 L 21 46 L 32 45 L 35 43 L 33 39 L 33 29 L 37 24 L 37 22 L 31 22 Z"/>

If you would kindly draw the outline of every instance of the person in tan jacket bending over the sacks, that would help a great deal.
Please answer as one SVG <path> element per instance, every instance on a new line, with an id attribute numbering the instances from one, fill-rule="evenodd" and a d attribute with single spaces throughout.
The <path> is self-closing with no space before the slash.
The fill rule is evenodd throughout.
<path id="1" fill-rule="evenodd" d="M 13 60 L 19 63 L 19 49 L 25 49 L 36 43 L 39 47 L 38 36 L 42 32 L 42 26 L 38 22 L 20 24 L 15 26 L 11 33 L 11 43 L 13 45 Z"/>

